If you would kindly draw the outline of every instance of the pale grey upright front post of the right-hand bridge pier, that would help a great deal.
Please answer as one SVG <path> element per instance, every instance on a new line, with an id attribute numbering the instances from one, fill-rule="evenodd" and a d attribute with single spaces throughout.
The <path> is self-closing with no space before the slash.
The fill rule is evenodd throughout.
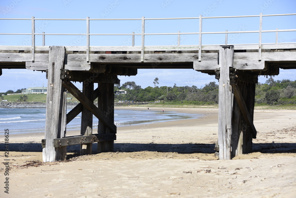
<path id="1" fill-rule="evenodd" d="M 229 67 L 233 66 L 233 45 L 220 46 L 218 144 L 219 159 L 231 159 L 232 88 Z M 203 59 L 202 59 L 203 60 Z"/>

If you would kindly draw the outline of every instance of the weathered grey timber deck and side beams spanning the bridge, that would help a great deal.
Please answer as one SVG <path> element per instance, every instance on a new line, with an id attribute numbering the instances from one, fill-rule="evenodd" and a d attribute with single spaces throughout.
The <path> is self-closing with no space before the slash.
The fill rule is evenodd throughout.
<path id="1" fill-rule="evenodd" d="M 202 46 L 201 61 L 198 46 L 90 47 L 86 61 L 85 47 L 65 46 L 65 69 L 113 75 L 136 75 L 136 69 L 194 69 L 213 75 L 219 68 L 219 46 Z M 48 69 L 49 46 L 36 46 L 32 61 L 30 46 L 0 46 L 0 69 Z M 258 45 L 234 45 L 235 69 L 258 75 L 278 75 L 279 68 L 296 69 L 296 44 L 262 45 L 259 60 Z"/>

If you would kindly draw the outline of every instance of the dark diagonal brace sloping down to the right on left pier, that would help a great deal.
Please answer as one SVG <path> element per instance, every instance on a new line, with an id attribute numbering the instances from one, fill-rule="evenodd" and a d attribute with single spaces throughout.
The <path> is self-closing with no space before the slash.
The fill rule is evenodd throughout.
<path id="1" fill-rule="evenodd" d="M 91 102 L 87 97 L 85 97 L 81 91 L 73 85 L 70 81 L 63 80 L 62 85 L 76 98 L 85 106 L 89 111 L 91 111 L 102 123 L 104 123 L 105 126 L 107 126 L 108 129 L 112 133 L 116 133 L 116 126 L 114 125 L 114 122 L 111 122 L 110 120 L 107 119 L 105 113 L 102 112 L 101 110 L 94 105 L 93 102 Z"/>

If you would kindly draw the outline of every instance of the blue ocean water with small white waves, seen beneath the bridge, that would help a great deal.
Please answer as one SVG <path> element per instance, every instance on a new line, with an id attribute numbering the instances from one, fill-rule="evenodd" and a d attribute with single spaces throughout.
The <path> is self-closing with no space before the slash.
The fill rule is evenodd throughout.
<path id="1" fill-rule="evenodd" d="M 67 113 L 71 109 L 67 109 Z M 0 109 L 0 134 L 9 129 L 9 134 L 39 133 L 45 129 L 46 109 Z M 139 125 L 145 123 L 164 122 L 168 120 L 199 118 L 201 114 L 185 114 L 174 111 L 147 110 L 115 110 L 114 124 L 117 127 L 125 125 Z M 81 113 L 67 124 L 67 130 L 80 129 Z M 94 116 L 93 128 L 98 125 Z"/>

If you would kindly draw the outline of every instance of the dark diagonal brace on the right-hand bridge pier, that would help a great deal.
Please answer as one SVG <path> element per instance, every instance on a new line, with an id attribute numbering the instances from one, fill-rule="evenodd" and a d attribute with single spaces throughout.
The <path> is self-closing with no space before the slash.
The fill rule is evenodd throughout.
<path id="1" fill-rule="evenodd" d="M 255 126 L 254 126 L 254 123 L 253 123 L 253 120 L 251 118 L 251 115 L 247 109 L 247 106 L 246 106 L 246 103 L 244 102 L 244 98 L 241 94 L 241 92 L 239 91 L 239 87 L 237 86 L 236 83 L 231 83 L 232 85 L 232 88 L 234 90 L 234 97 L 239 105 L 239 109 L 241 110 L 242 112 L 242 115 L 245 119 L 245 121 L 248 123 L 248 125 L 251 127 L 251 131 L 252 131 L 252 134 L 253 134 L 253 139 L 256 139 L 256 135 L 257 135 L 257 131 L 255 129 Z"/>

